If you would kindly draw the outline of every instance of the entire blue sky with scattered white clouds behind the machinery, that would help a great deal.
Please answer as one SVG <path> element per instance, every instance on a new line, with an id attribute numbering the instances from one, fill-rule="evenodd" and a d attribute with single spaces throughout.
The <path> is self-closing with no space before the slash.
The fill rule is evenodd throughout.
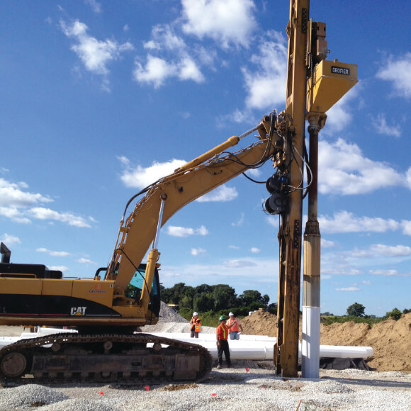
<path id="1" fill-rule="evenodd" d="M 310 4 L 327 23 L 327 59 L 359 67 L 320 133 L 322 312 L 411 308 L 411 30 L 399 18 L 410 9 Z M 11 260 L 92 277 L 140 188 L 282 111 L 288 12 L 288 1 L 1 1 L 0 240 Z M 267 196 L 239 176 L 174 215 L 159 240 L 164 286 L 228 283 L 276 301 Z"/>

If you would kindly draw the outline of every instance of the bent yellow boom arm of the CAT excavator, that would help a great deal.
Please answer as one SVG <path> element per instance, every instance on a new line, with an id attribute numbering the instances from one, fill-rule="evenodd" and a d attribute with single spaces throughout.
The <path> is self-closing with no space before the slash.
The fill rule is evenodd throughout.
<path id="1" fill-rule="evenodd" d="M 248 169 L 261 167 L 278 152 L 277 147 L 282 147 L 282 139 L 274 128 L 275 120 L 274 113 L 265 116 L 261 123 L 249 132 L 240 137 L 230 137 L 223 144 L 193 159 L 143 191 L 145 196 L 135 205 L 133 212 L 128 218 L 121 220 L 113 259 L 106 275 L 106 279 L 115 281 L 114 293 L 119 300 L 121 295 L 124 295 L 125 288 L 133 278 L 150 244 L 154 242 L 158 226 L 167 223 L 167 220 L 184 205 Z M 237 145 L 243 137 L 256 130 L 259 133 L 257 142 L 234 153 L 225 152 L 228 147 Z M 162 201 L 164 201 L 164 210 L 159 224 Z M 158 254 L 157 252 L 157 257 Z M 147 264 L 145 274 L 145 289 L 149 293 L 152 274 L 148 272 L 148 268 L 152 262 L 150 264 L 149 261 Z"/>

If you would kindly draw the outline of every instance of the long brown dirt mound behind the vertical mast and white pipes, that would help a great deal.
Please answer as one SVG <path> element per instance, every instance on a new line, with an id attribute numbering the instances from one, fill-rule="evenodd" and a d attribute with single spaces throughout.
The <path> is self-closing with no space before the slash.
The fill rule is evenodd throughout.
<path id="1" fill-rule="evenodd" d="M 276 337 L 277 317 L 258 310 L 241 320 L 244 334 Z M 301 319 L 300 319 L 301 332 Z M 368 365 L 378 371 L 411 372 L 411 313 L 400 320 L 393 318 L 370 327 L 353 321 L 321 325 L 320 344 L 372 347 L 374 356 Z"/>

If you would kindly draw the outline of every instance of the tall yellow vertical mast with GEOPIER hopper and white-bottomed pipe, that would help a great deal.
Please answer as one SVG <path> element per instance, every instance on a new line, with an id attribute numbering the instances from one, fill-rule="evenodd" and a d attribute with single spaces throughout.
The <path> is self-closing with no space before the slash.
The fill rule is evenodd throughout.
<path id="1" fill-rule="evenodd" d="M 357 82 L 356 64 L 325 60 L 325 23 L 310 20 L 310 1 L 291 0 L 287 26 L 288 62 L 286 130 L 291 145 L 274 159 L 274 168 L 288 169 L 288 210 L 281 213 L 278 270 L 278 328 L 274 347 L 276 373 L 298 376 L 298 330 L 300 317 L 300 269 L 303 215 L 303 158 L 305 120 L 309 122 L 310 175 L 308 223 L 304 233 L 303 276 L 303 376 L 315 377 L 320 347 L 320 228 L 317 221 L 317 142 L 325 115 Z M 284 118 L 284 116 L 283 116 Z M 281 175 L 285 174 L 281 170 Z M 267 181 L 268 184 L 268 181 Z M 271 191 L 270 191 L 271 192 Z M 269 213 L 270 210 L 268 209 Z M 274 214 L 274 212 L 272 213 Z M 304 314 L 308 313 L 308 320 Z M 310 342 L 307 342 L 309 339 Z M 314 343 L 313 343 L 314 342 Z M 314 370 L 314 371 L 313 371 Z"/>

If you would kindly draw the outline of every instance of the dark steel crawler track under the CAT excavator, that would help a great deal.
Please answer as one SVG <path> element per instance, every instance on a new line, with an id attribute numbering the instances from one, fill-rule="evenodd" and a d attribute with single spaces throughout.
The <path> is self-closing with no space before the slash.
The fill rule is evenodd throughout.
<path id="1" fill-rule="evenodd" d="M 198 344 L 152 334 L 51 334 L 0 349 L 0 377 L 16 381 L 118 382 L 202 381 L 212 366 Z"/>

